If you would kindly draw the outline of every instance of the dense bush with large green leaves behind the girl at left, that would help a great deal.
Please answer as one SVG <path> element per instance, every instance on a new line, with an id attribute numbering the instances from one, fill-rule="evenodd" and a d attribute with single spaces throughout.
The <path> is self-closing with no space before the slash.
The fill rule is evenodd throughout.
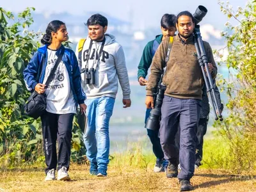
<path id="1" fill-rule="evenodd" d="M 40 118 L 24 115 L 24 104 L 29 97 L 23 81 L 23 70 L 33 53 L 40 47 L 40 33 L 29 31 L 33 24 L 31 11 L 26 8 L 17 15 L 0 8 L 0 163 L 6 166 L 22 162 L 44 161 Z M 10 24 L 12 23 L 12 24 Z M 66 43 L 65 46 L 68 46 Z M 72 138 L 72 159 L 82 160 L 81 131 L 75 123 Z M 39 158 L 40 157 L 40 158 Z"/>

